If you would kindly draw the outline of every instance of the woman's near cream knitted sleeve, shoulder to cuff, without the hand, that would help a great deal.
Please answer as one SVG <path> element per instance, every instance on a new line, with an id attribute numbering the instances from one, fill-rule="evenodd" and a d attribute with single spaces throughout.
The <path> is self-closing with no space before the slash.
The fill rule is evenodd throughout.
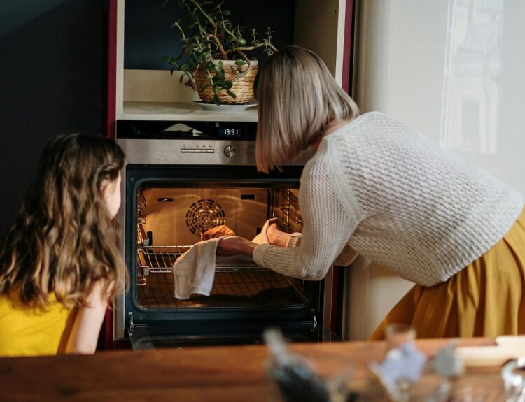
<path id="1" fill-rule="evenodd" d="M 349 204 L 340 199 L 335 181 L 323 159 L 305 166 L 299 193 L 303 219 L 300 244 L 259 245 L 253 252 L 257 264 L 293 278 L 324 278 L 358 225 Z M 344 256 L 348 261 L 349 254 Z"/>

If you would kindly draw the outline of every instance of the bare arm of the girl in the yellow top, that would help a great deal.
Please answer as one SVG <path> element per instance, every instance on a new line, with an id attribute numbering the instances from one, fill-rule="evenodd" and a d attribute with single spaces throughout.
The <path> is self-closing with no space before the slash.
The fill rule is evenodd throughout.
<path id="1" fill-rule="evenodd" d="M 94 285 L 87 296 L 88 306 L 80 306 L 67 341 L 66 353 L 93 354 L 97 349 L 99 332 L 106 315 L 108 298 L 103 281 Z"/>

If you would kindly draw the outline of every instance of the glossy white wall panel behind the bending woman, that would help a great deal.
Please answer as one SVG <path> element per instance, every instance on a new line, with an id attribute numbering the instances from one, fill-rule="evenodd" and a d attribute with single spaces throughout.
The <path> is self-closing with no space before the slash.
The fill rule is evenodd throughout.
<path id="1" fill-rule="evenodd" d="M 356 99 L 525 194 L 525 2 L 361 0 Z M 365 339 L 412 286 L 360 259 L 346 338 Z"/>

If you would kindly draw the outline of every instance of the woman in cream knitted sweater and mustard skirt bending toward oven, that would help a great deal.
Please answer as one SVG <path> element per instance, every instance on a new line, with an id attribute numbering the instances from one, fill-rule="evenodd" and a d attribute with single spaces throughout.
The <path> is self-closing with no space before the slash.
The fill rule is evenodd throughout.
<path id="1" fill-rule="evenodd" d="M 421 338 L 525 333 L 521 194 L 402 122 L 359 115 L 309 50 L 284 48 L 259 74 L 258 169 L 316 150 L 300 182 L 303 231 L 272 224 L 270 244 L 225 237 L 218 253 L 308 280 L 358 254 L 384 264 L 416 285 L 373 339 L 391 322 Z"/>

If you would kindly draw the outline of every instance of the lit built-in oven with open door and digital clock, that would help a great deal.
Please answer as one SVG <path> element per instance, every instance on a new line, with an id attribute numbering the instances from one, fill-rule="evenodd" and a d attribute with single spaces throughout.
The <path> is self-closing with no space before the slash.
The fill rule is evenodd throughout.
<path id="1" fill-rule="evenodd" d="M 278 326 L 290 341 L 337 338 L 332 281 L 288 278 L 247 257 L 217 257 L 210 296 L 174 297 L 174 261 L 225 224 L 254 238 L 272 217 L 302 230 L 302 155 L 271 174 L 255 168 L 256 122 L 119 121 L 123 252 L 130 283 L 113 308 L 113 339 L 134 350 L 259 343 Z"/>

